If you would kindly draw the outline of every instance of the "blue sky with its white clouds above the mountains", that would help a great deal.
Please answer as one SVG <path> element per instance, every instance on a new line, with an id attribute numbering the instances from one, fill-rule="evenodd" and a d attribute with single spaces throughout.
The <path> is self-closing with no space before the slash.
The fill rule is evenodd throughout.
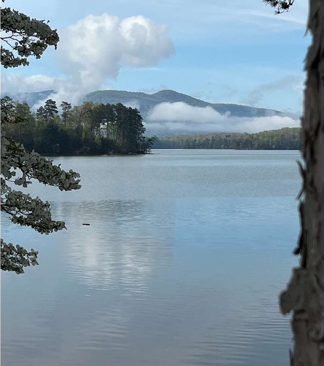
<path id="1" fill-rule="evenodd" d="M 307 3 L 274 15 L 261 0 L 6 0 L 50 20 L 61 41 L 28 67 L 3 69 L 2 91 L 55 88 L 67 99 L 98 89 L 173 89 L 299 113 Z"/>

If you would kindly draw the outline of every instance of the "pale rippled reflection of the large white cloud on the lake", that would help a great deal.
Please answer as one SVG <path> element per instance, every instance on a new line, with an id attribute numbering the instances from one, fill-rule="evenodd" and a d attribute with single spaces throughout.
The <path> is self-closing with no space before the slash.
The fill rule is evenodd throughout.
<path id="1" fill-rule="evenodd" d="M 69 274 L 88 287 L 120 288 L 125 296 L 142 297 L 152 270 L 170 259 L 168 206 L 167 201 L 156 206 L 144 200 L 54 204 L 57 216 L 73 218 L 66 222 L 64 261 Z"/>

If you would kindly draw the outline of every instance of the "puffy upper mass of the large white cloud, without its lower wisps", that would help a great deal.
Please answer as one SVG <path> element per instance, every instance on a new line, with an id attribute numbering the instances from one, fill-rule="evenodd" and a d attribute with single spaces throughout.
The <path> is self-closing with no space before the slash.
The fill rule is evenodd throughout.
<path id="1" fill-rule="evenodd" d="M 59 64 L 89 90 L 116 77 L 123 65 L 155 66 L 174 53 L 168 27 L 143 16 L 119 20 L 108 14 L 88 15 L 60 30 L 60 37 Z"/>

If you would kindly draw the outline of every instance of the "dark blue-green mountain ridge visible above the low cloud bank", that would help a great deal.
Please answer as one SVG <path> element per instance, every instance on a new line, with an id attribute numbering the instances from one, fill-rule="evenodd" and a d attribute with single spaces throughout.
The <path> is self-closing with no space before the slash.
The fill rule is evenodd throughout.
<path id="1" fill-rule="evenodd" d="M 220 114 L 230 114 L 234 117 L 264 117 L 269 115 L 285 115 L 284 113 L 265 108 L 254 108 L 239 104 L 209 103 L 189 95 L 175 92 L 173 90 L 161 90 L 154 94 L 141 92 L 125 92 L 119 90 L 98 90 L 89 93 L 82 98 L 82 101 L 92 101 L 95 103 L 121 103 L 130 107 L 137 107 L 143 118 L 147 116 L 149 110 L 155 105 L 163 102 L 175 103 L 183 102 L 195 107 L 212 107 Z"/>

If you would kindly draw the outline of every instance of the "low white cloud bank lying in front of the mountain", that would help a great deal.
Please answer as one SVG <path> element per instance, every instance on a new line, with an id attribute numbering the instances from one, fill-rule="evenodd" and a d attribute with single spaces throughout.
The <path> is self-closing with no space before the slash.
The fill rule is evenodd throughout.
<path id="1" fill-rule="evenodd" d="M 183 102 L 160 103 L 145 118 L 147 132 L 172 133 L 247 132 L 257 133 L 283 127 L 299 127 L 289 116 L 234 117 L 220 114 L 210 106 L 194 107 Z"/>

